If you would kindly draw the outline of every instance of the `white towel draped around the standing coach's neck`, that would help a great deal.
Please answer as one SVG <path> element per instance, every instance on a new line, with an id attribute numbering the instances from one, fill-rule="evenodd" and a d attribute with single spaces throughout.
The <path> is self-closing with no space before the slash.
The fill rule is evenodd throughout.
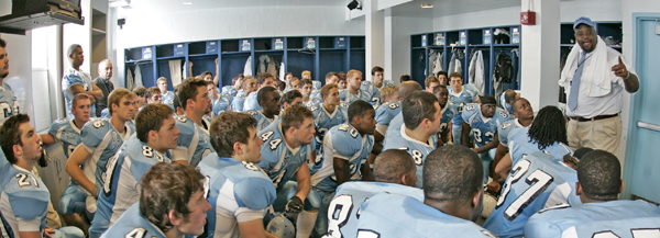
<path id="1" fill-rule="evenodd" d="M 601 36 L 597 36 L 596 38 L 596 49 L 594 49 L 593 55 L 591 56 L 591 64 L 584 66 L 580 79 L 581 83 L 587 83 L 586 86 L 588 89 L 586 90 L 586 94 L 588 97 L 607 95 L 609 91 L 612 91 L 612 83 L 615 83 L 618 80 L 618 77 L 612 73 L 612 67 L 614 65 L 608 65 L 607 63 L 607 45 Z M 580 45 L 575 43 L 566 58 L 565 66 L 569 67 L 564 67 L 561 71 L 559 86 L 564 88 L 570 86 L 570 82 L 573 80 L 573 72 L 576 69 L 573 65 L 576 65 L 575 61 L 580 60 L 582 52 Z"/>

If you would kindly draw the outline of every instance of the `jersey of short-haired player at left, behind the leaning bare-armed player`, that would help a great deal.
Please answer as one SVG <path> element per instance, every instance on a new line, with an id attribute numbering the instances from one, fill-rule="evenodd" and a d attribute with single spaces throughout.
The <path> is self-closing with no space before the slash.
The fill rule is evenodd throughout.
<path id="1" fill-rule="evenodd" d="M 76 126 L 73 118 L 56 120 L 51 124 L 48 134 L 55 137 L 57 141 L 62 143 L 64 156 L 66 156 L 66 158 L 68 158 L 74 152 L 74 149 L 82 141 L 80 138 L 80 129 Z"/>

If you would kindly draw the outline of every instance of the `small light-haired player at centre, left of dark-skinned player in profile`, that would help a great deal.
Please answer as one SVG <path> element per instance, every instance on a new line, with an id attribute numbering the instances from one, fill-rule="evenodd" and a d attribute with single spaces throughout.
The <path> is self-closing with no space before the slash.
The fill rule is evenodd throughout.
<path id="1" fill-rule="evenodd" d="M 314 114 L 314 124 L 316 125 L 316 145 L 317 158 L 314 160 L 315 167 L 321 166 L 320 156 L 322 155 L 323 136 L 328 129 L 336 125 L 348 122 L 349 106 L 339 100 L 339 88 L 334 83 L 326 84 L 321 88 L 323 102 L 309 107 Z"/>

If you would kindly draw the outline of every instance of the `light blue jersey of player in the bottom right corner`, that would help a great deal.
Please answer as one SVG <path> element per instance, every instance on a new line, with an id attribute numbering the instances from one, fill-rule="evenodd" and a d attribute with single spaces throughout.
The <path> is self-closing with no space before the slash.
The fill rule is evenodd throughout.
<path id="1" fill-rule="evenodd" d="M 658 237 L 660 208 L 642 201 L 562 204 L 541 211 L 525 225 L 525 236 L 550 237 Z"/>

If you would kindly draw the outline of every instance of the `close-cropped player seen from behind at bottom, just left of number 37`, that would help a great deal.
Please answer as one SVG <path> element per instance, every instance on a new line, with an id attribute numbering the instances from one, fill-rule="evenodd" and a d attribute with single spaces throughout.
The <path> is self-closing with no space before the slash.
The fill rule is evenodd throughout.
<path id="1" fill-rule="evenodd" d="M 424 202 L 372 196 L 360 207 L 358 237 L 493 237 L 473 223 L 482 208 L 482 173 L 479 156 L 465 147 L 433 150 L 424 165 Z"/>

